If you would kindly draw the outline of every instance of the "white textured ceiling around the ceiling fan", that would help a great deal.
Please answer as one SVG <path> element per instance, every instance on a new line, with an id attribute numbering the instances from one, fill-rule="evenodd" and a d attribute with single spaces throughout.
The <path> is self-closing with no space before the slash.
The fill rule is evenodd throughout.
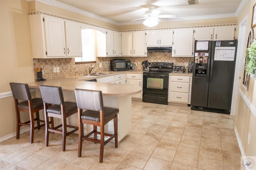
<path id="1" fill-rule="evenodd" d="M 177 18 L 220 18 L 237 16 L 237 10 L 246 0 L 197 0 L 189 5 L 187 0 L 40 0 L 78 8 L 118 24 L 142 18 L 147 6 L 154 5 L 161 15 L 176 15 Z M 161 19 L 165 20 L 166 19 Z M 137 21 L 138 22 L 143 22 Z"/>

